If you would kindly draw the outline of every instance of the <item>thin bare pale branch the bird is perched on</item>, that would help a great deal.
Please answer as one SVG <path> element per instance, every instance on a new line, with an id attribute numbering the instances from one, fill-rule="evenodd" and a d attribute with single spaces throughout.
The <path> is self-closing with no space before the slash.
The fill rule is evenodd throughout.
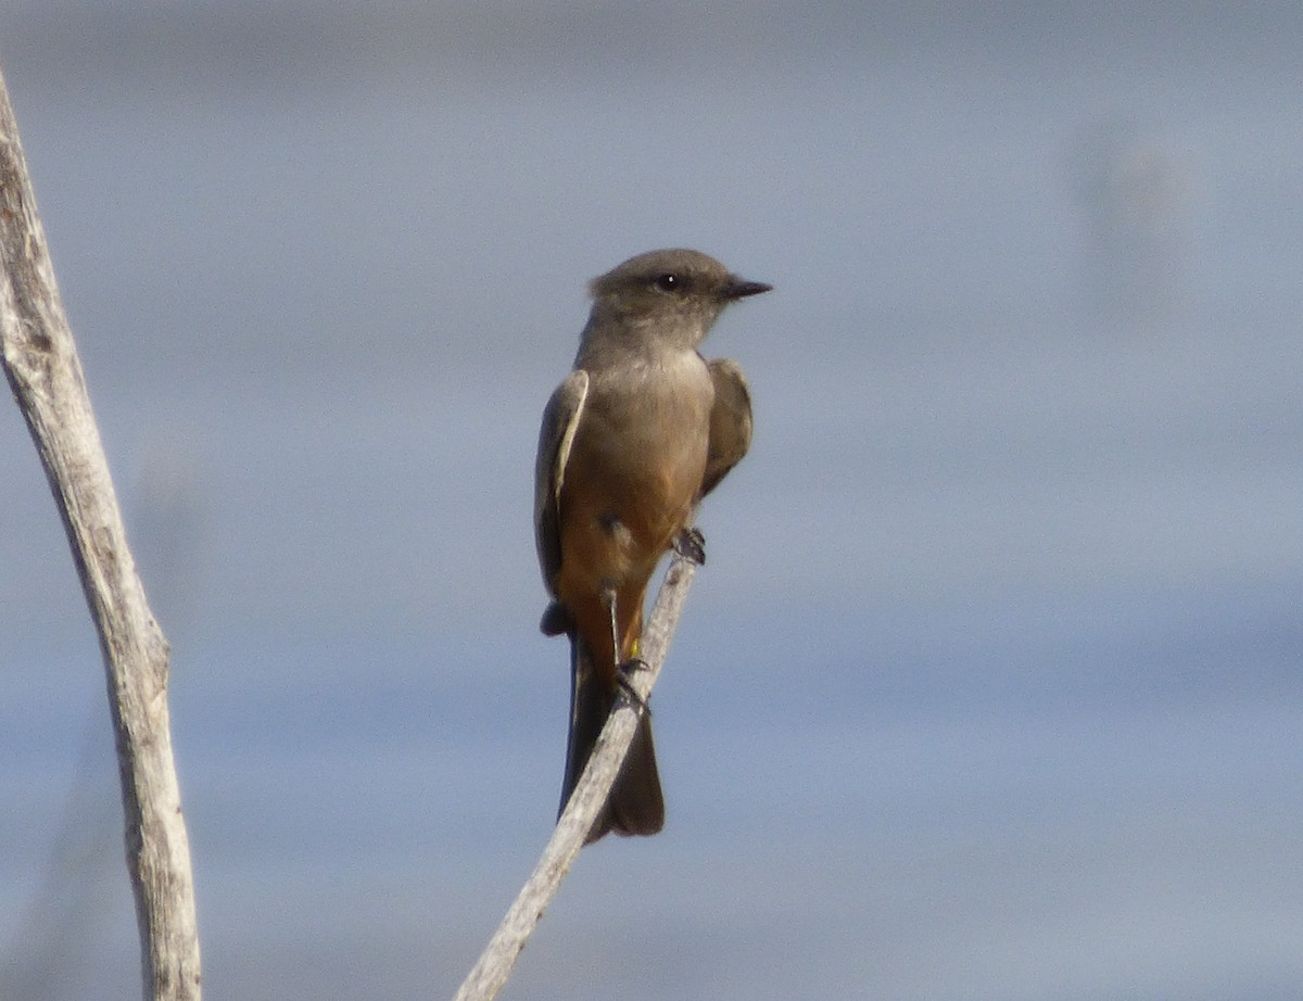
<path id="1" fill-rule="evenodd" d="M 670 649 L 670 640 L 679 624 L 684 602 L 688 598 L 688 588 L 692 587 L 692 576 L 696 564 L 675 553 L 666 571 L 665 583 L 657 596 L 652 618 L 642 633 L 642 658 L 649 670 L 635 671 L 629 680 L 633 689 L 644 701 L 652 695 L 652 687 L 661 674 L 665 663 L 665 654 Z M 538 864 L 521 888 L 515 903 L 502 919 L 498 931 L 485 948 L 474 968 L 466 975 L 461 988 L 453 1001 L 491 1001 L 498 996 L 511 970 L 516 963 L 516 957 L 525 948 L 525 942 L 534 931 L 534 925 L 543 916 L 547 905 L 551 903 L 556 890 L 560 889 L 562 880 L 569 872 L 584 846 L 584 837 L 593 826 L 598 811 L 606 803 L 606 798 L 615 782 L 615 776 L 620 770 L 624 755 L 628 753 L 633 742 L 633 733 L 637 729 L 637 710 L 628 700 L 616 703 L 615 710 L 606 721 L 597 747 L 589 757 L 588 768 L 571 794 L 566 812 L 556 821 L 556 830 L 543 849 Z"/>

